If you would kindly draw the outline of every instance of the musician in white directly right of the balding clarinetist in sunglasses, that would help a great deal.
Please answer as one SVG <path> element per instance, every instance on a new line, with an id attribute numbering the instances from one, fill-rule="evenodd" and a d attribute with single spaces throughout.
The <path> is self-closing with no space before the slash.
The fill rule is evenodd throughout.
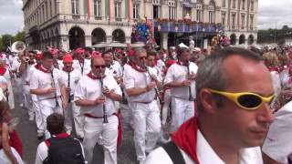
<path id="1" fill-rule="evenodd" d="M 145 67 L 147 59 L 145 49 L 135 49 L 134 57 L 135 63 L 130 63 L 123 78 L 133 112 L 136 155 L 140 163 L 143 163 L 146 152 L 155 148 L 161 132 L 160 110 L 155 99 L 155 87 L 159 83 L 159 78 L 150 75 Z"/>

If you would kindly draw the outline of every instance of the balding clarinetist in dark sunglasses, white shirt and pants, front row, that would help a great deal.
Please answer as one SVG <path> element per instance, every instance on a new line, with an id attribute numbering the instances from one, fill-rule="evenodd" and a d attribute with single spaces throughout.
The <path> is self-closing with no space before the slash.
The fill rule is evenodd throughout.
<path id="1" fill-rule="evenodd" d="M 114 77 L 104 74 L 105 68 L 102 57 L 92 58 L 91 71 L 79 80 L 74 93 L 85 116 L 83 146 L 89 164 L 97 143 L 104 149 L 104 162 L 117 163 L 119 120 L 114 101 L 121 100 L 121 90 Z"/>

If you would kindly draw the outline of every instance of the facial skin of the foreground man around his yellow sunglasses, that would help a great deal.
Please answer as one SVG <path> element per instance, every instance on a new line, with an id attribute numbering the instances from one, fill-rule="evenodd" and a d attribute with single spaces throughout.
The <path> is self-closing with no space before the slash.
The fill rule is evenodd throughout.
<path id="1" fill-rule="evenodd" d="M 263 97 L 274 94 L 270 73 L 261 62 L 230 56 L 224 61 L 223 72 L 229 82 L 224 89 L 226 92 L 252 92 Z M 216 128 L 220 129 L 219 138 L 228 140 L 228 143 L 237 148 L 262 145 L 268 125 L 274 119 L 267 103 L 248 110 L 223 97 L 222 106 L 215 107 L 213 116 L 217 122 Z"/>

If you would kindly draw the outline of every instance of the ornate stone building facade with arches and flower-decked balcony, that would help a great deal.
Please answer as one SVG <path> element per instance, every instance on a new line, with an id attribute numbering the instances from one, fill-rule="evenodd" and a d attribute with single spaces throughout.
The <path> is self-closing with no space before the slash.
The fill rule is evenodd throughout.
<path id="1" fill-rule="evenodd" d="M 256 42 L 258 0 L 23 0 L 26 44 L 30 49 L 117 41 L 130 43 L 132 26 L 151 20 L 158 45 L 167 48 L 210 41 L 218 30 L 232 44 Z M 187 20 L 187 21 L 186 21 Z M 218 26 L 221 25 L 221 26 Z"/>

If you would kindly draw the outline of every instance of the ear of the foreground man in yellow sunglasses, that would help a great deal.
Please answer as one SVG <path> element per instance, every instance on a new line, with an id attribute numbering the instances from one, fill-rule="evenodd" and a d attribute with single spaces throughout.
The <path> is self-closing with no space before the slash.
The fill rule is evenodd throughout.
<path id="1" fill-rule="evenodd" d="M 213 94 L 209 90 L 203 88 L 200 91 L 199 97 L 203 106 L 203 112 L 213 114 L 216 111 L 215 108 L 217 108 Z"/>

